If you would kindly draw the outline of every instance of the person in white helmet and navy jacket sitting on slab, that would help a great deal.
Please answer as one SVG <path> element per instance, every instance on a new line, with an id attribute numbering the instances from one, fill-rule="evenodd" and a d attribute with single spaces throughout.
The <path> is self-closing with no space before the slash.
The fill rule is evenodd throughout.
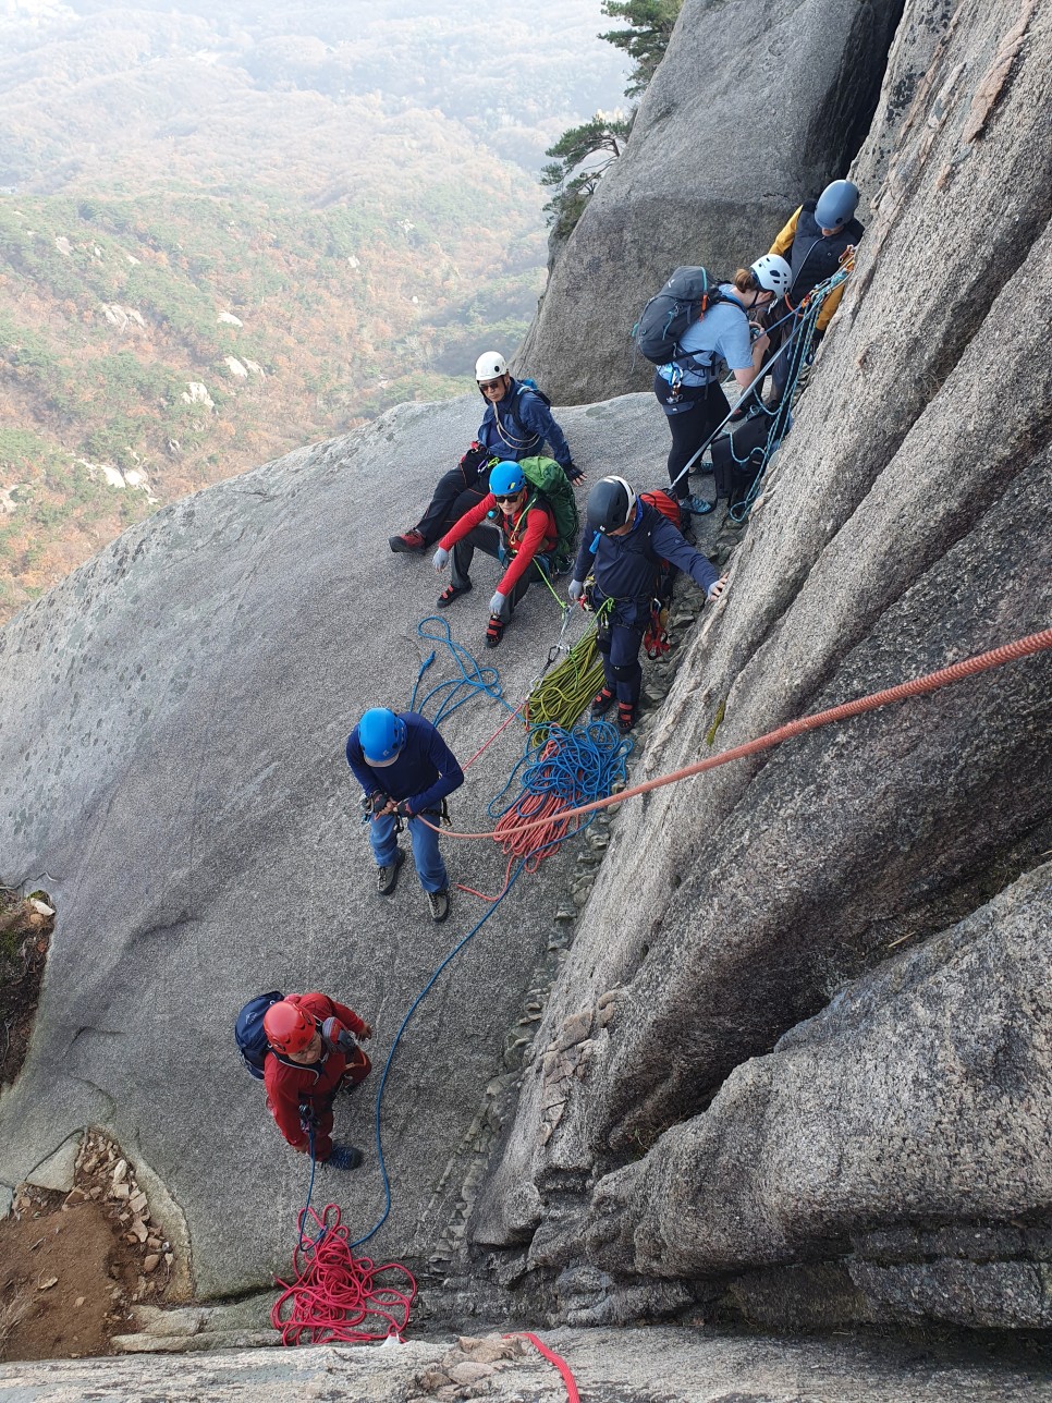
<path id="1" fill-rule="evenodd" d="M 476 380 L 485 414 L 478 427 L 478 438 L 460 459 L 443 473 L 428 509 L 401 536 L 391 536 L 394 551 L 425 550 L 460 521 L 464 512 L 477 506 L 490 491 L 490 469 L 494 462 L 522 462 L 536 457 L 544 443 L 571 483 L 584 481 L 585 474 L 569 456 L 565 435 L 551 415 L 540 393 L 520 384 L 508 373 L 508 362 L 498 351 L 487 351 L 476 362 Z"/>

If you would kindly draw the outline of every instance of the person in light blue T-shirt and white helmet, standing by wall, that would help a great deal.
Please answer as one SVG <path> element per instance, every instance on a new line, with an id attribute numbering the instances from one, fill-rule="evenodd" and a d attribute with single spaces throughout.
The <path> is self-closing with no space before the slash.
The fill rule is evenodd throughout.
<path id="1" fill-rule="evenodd" d="M 682 354 L 658 366 L 654 393 L 669 421 L 669 480 L 682 511 L 696 516 L 713 511 L 713 502 L 690 495 L 683 469 L 731 412 L 720 383 L 722 366 L 743 390 L 759 375 L 767 337 L 757 317 L 788 285 L 790 265 L 781 257 L 764 254 L 752 267 L 739 268 L 732 282 L 721 283 L 721 300 L 687 327 L 679 342 Z"/>

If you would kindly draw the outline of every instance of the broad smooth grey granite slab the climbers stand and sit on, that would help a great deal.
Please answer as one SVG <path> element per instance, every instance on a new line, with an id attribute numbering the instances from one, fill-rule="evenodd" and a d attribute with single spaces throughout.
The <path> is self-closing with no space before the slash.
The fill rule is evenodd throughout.
<path id="1" fill-rule="evenodd" d="M 647 397 L 562 418 L 586 469 L 614 459 L 647 471 Z M 424 689 L 459 675 L 417 633 L 442 581 L 429 558 L 393 556 L 387 536 L 477 422 L 474 397 L 403 405 L 201 492 L 0 631 L 0 880 L 45 888 L 59 911 L 29 1055 L 0 1092 L 0 1181 L 102 1125 L 151 1183 L 154 1216 L 188 1249 L 203 1295 L 286 1267 L 307 1191 L 307 1162 L 240 1065 L 237 1009 L 265 989 L 321 988 L 373 1024 L 379 1065 L 337 1108 L 338 1138 L 366 1163 L 317 1186 L 365 1232 L 383 1208 L 370 1148 L 383 1059 L 431 971 L 487 909 L 454 892 L 450 920 L 432 925 L 411 867 L 394 899 L 377 898 L 344 759 L 363 710 L 408 704 L 432 648 Z M 429 629 L 447 620 L 481 657 L 497 561 L 477 557 L 473 574 L 476 592 Z M 516 703 L 558 622 L 547 591 L 530 591 L 494 655 Z M 467 759 L 505 716 L 478 699 L 443 731 Z M 520 752 L 509 727 L 454 796 L 459 826 L 491 826 L 485 804 Z M 494 845 L 445 850 L 453 881 L 501 890 Z M 460 1188 L 447 1166 L 546 954 L 551 926 L 533 912 L 554 908 L 541 892 L 562 878 L 555 859 L 508 897 L 403 1040 L 380 1251 L 426 1256 L 445 1223 L 443 1195 Z"/>

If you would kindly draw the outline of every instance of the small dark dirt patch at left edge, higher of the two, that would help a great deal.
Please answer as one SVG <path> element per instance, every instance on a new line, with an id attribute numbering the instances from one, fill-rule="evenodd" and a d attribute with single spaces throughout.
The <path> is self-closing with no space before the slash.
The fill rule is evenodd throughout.
<path id="1" fill-rule="evenodd" d="M 0 1086 L 22 1069 L 53 929 L 46 892 L 0 887 Z"/>

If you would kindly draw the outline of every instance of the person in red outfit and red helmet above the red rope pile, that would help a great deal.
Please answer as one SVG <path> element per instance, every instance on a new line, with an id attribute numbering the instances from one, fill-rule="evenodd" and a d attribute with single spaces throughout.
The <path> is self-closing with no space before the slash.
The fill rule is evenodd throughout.
<path id="1" fill-rule="evenodd" d="M 264 1014 L 267 1107 L 293 1149 L 330 1169 L 356 1169 L 360 1149 L 332 1142 L 332 1103 L 372 1070 L 358 1045 L 373 1035 L 353 1009 L 324 993 L 289 993 Z M 313 1145 L 311 1145 L 313 1138 Z"/>

